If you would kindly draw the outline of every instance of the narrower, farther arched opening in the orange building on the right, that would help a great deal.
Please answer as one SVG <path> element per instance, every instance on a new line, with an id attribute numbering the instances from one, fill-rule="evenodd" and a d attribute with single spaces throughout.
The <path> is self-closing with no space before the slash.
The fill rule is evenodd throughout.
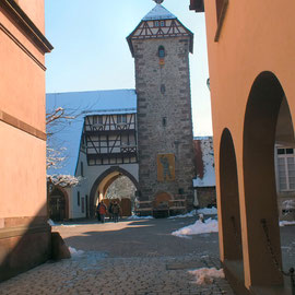
<path id="1" fill-rule="evenodd" d="M 232 267 L 238 268 L 239 273 L 243 273 L 237 163 L 233 138 L 228 129 L 223 131 L 220 145 L 220 188 L 222 261 L 226 261 L 227 267 L 231 267 L 231 263 L 234 264 Z"/>

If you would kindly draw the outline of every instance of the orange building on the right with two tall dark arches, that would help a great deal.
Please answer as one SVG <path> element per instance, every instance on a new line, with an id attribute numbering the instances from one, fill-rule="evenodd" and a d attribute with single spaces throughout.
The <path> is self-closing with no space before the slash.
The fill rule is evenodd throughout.
<path id="1" fill-rule="evenodd" d="M 204 11 L 206 20 L 220 252 L 226 276 L 237 294 L 286 294 L 291 286 L 280 271 L 275 144 L 295 146 L 295 61 L 290 58 L 295 3 L 191 0 L 190 9 Z M 278 181 L 286 189 L 294 177 L 280 175 L 287 161 L 281 152 Z M 293 160 L 288 165 L 294 174 Z"/>

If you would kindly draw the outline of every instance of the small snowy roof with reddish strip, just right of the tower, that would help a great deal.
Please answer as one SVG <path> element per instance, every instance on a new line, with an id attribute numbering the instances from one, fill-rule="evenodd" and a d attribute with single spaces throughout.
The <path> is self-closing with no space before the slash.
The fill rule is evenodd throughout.
<path id="1" fill-rule="evenodd" d="M 215 187 L 213 139 L 194 138 L 194 153 L 197 177 L 193 179 L 193 187 Z"/>

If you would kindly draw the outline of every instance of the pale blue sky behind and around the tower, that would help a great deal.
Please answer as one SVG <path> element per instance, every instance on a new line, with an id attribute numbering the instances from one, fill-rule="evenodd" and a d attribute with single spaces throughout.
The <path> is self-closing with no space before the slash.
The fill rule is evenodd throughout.
<path id="1" fill-rule="evenodd" d="M 204 14 L 189 0 L 163 5 L 194 34 L 190 55 L 194 135 L 211 135 Z M 134 88 L 134 60 L 126 37 L 153 8 L 152 0 L 45 0 L 46 37 L 55 49 L 46 57 L 46 92 Z"/>

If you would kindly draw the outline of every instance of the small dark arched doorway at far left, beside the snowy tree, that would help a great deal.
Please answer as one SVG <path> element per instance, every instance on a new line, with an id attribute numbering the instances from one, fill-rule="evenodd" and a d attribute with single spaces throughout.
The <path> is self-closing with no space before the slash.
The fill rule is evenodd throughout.
<path id="1" fill-rule="evenodd" d="M 55 187 L 49 194 L 49 219 L 57 222 L 69 219 L 68 194 L 62 188 Z"/>

